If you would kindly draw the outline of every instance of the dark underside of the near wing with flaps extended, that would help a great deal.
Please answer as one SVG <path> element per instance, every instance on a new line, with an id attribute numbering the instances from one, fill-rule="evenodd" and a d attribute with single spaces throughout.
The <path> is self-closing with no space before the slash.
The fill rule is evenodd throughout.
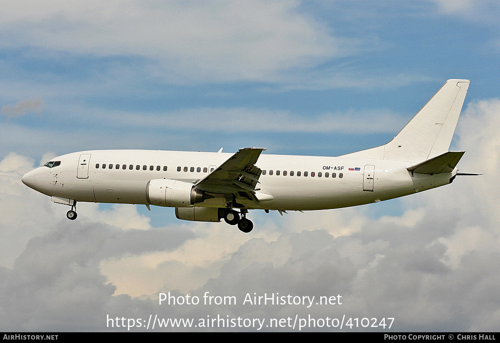
<path id="1" fill-rule="evenodd" d="M 196 188 L 209 193 L 234 194 L 245 192 L 254 199 L 255 186 L 262 172 L 255 166 L 260 153 L 265 149 L 243 148 L 232 155 L 213 172 L 195 183 Z M 248 194 L 249 193 L 249 194 Z"/>

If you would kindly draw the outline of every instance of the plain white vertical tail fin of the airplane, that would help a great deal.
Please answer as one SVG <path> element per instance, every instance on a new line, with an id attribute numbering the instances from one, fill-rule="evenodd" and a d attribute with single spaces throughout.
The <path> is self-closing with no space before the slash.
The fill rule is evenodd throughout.
<path id="1" fill-rule="evenodd" d="M 469 82 L 446 81 L 389 143 L 344 156 L 420 162 L 446 153 Z"/>

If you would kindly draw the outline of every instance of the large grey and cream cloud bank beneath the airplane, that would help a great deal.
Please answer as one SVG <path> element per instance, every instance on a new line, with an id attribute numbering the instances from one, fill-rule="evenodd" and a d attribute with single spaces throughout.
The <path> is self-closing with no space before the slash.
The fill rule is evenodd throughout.
<path id="1" fill-rule="evenodd" d="M 93 219 L 80 209 L 76 222 L 59 220 L 46 197 L 33 197 L 41 221 L 24 224 L 29 217 L 15 208 L 0 217 L 2 233 L 20 226 L 30 236 L 15 262 L 0 269 L 0 328 L 111 330 L 106 315 L 268 321 L 310 314 L 391 317 L 397 331 L 498 331 L 498 112 L 497 99 L 473 102 L 457 129 L 455 144 L 467 150 L 459 168 L 484 175 L 407 196 L 401 215 L 371 218 L 364 207 L 268 215 L 250 235 L 223 223 L 160 229 L 143 220 L 139 230 L 105 223 L 91 206 L 85 210 Z M 15 181 L 30 164 L 18 155 L 1 161 L 5 203 L 34 195 Z M 200 299 L 209 292 L 237 303 L 157 305 L 160 291 Z M 247 293 L 341 295 L 342 304 L 243 305 Z"/>

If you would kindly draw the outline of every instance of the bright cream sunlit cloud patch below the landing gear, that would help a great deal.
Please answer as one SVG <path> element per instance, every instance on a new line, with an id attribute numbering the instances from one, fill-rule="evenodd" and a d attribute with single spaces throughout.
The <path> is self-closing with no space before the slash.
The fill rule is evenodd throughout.
<path id="1" fill-rule="evenodd" d="M 188 226 L 195 237 L 178 249 L 101 261 L 102 273 L 111 281 L 116 281 L 116 294 L 137 297 L 160 290 L 177 290 L 187 294 L 202 287 L 210 278 L 217 277 L 223 263 L 252 236 L 265 237 L 267 240 L 278 236 L 272 231 L 257 232 L 250 236 L 238 235 L 233 226 L 225 223 L 191 223 L 183 226 Z M 127 279 L 133 282 L 122 282 L 123 270 L 131 271 Z"/>

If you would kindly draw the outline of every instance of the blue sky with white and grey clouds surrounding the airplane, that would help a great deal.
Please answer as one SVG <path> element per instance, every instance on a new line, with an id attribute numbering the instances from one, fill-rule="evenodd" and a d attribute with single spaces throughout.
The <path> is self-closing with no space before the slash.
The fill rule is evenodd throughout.
<path id="1" fill-rule="evenodd" d="M 151 331 L 137 325 L 150 315 L 500 330 L 499 10 L 493 0 L 2 1 L 0 331 Z M 460 172 L 483 175 L 399 199 L 250 211 L 243 234 L 154 206 L 79 203 L 69 221 L 20 181 L 94 149 L 338 156 L 388 142 L 450 78 L 471 80 L 451 150 L 466 151 Z M 200 303 L 160 305 L 162 293 Z M 205 294 L 237 302 L 204 304 Z M 247 294 L 341 298 L 272 306 Z M 340 330 L 321 323 L 301 331 Z"/>

